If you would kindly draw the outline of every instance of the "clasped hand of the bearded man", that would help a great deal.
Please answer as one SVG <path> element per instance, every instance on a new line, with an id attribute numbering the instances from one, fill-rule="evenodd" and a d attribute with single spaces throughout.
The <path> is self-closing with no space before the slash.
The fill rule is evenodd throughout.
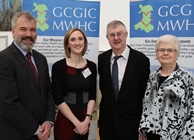
<path id="1" fill-rule="evenodd" d="M 39 140 L 48 140 L 50 137 L 52 124 L 50 122 L 44 122 L 40 127 L 40 132 L 37 135 Z"/>

